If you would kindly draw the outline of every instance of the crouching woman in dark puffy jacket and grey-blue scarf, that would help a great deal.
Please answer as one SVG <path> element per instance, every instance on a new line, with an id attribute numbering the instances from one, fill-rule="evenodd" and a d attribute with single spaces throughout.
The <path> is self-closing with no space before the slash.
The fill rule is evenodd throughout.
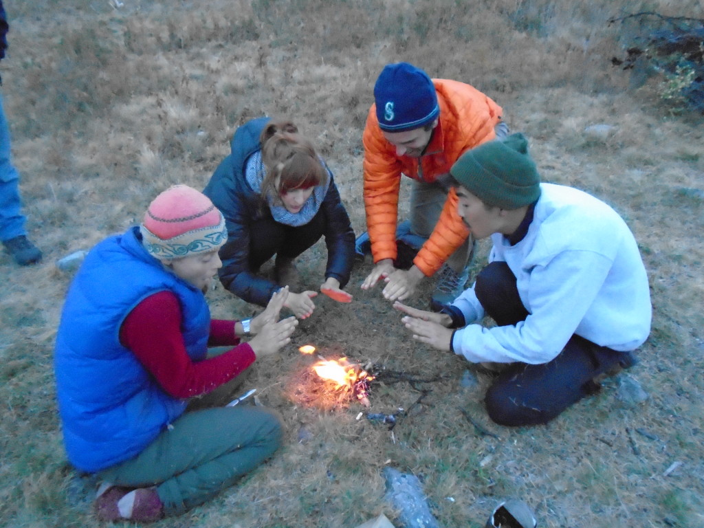
<path id="1" fill-rule="evenodd" d="M 313 313 L 317 291 L 296 291 L 293 260 L 325 236 L 327 266 L 321 291 L 351 300 L 347 284 L 354 232 L 332 172 L 312 144 L 287 120 L 258 118 L 239 127 L 232 153 L 203 191 L 225 215 L 228 239 L 220 249 L 220 282 L 249 303 L 266 306 L 288 285 L 287 306 L 297 318 Z M 276 256 L 275 281 L 258 275 Z"/>

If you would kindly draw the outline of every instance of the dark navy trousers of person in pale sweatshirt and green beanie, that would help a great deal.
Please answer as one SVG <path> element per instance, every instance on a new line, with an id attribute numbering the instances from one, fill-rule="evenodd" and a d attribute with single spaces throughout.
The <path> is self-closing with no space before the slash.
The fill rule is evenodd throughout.
<path id="1" fill-rule="evenodd" d="M 504 262 L 486 266 L 477 275 L 474 291 L 499 326 L 516 325 L 528 315 L 516 277 Z M 596 377 L 633 364 L 631 353 L 598 346 L 574 334 L 550 362 L 512 363 L 503 370 L 486 391 L 486 411 L 500 425 L 544 424 L 598 390 Z"/>

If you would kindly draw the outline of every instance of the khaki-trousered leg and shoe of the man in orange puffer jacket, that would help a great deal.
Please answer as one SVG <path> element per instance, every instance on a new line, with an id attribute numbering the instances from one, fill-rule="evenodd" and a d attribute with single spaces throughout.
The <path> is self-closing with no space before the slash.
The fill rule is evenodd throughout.
<path id="1" fill-rule="evenodd" d="M 414 181 L 410 192 L 411 233 L 427 239 L 432 234 L 442 212 L 450 189 L 449 175 L 436 182 Z M 432 294 L 431 308 L 441 310 L 462 293 L 469 279 L 469 268 L 474 253 L 474 239 L 470 234 L 463 244 L 449 256 L 438 272 L 437 284 Z"/>

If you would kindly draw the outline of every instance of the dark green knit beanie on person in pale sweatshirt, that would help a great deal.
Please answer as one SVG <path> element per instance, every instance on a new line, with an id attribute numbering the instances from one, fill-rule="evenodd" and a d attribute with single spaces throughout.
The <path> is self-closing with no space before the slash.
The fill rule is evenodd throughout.
<path id="1" fill-rule="evenodd" d="M 518 209 L 540 196 L 540 175 L 523 134 L 481 144 L 465 152 L 450 169 L 467 191 L 487 206 Z"/>

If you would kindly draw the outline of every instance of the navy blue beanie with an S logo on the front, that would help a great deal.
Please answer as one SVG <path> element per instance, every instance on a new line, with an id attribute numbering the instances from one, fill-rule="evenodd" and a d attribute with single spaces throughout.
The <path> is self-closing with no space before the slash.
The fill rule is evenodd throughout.
<path id="1" fill-rule="evenodd" d="M 420 128 L 440 113 L 432 80 L 409 63 L 384 66 L 374 85 L 374 100 L 379 128 L 386 132 Z"/>

